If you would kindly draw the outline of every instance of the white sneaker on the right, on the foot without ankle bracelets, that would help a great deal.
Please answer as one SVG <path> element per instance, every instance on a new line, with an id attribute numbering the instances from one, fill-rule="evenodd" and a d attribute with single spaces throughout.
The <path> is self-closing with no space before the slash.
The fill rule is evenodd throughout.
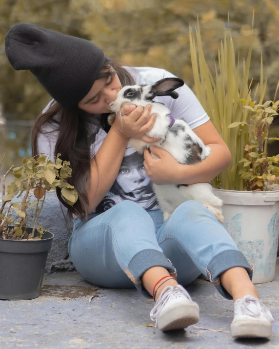
<path id="1" fill-rule="evenodd" d="M 271 323 L 274 321 L 270 311 L 258 298 L 245 296 L 234 303 L 235 316 L 231 325 L 233 337 L 252 338 L 271 336 Z"/>

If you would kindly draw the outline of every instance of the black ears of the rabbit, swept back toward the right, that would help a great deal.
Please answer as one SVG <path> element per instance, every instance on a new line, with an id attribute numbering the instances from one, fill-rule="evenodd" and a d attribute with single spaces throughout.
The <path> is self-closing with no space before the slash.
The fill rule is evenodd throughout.
<path id="1" fill-rule="evenodd" d="M 174 92 L 177 88 L 184 84 L 182 79 L 179 78 L 165 78 L 151 85 L 151 89 L 146 94 L 146 97 L 153 100 L 156 96 L 171 96 L 172 98 L 178 98 L 178 93 Z"/>

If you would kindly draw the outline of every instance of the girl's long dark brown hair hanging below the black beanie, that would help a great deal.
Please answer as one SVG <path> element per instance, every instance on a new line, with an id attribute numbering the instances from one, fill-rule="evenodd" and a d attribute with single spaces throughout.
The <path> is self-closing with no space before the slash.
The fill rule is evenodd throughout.
<path id="1" fill-rule="evenodd" d="M 98 79 L 108 78 L 114 72 L 110 69 L 114 68 L 120 79 L 121 85 L 134 85 L 135 80 L 131 74 L 120 65 L 119 60 L 113 60 L 107 56 L 104 57 L 104 62 L 101 68 L 105 72 L 100 72 Z M 60 118 L 54 118 L 60 115 Z M 60 202 L 67 207 L 68 216 L 73 218 L 76 215 L 80 218 L 87 219 L 88 195 L 86 192 L 86 183 L 90 180 L 91 161 L 94 161 L 98 166 L 95 154 L 93 158 L 90 154 L 91 144 L 95 142 L 96 135 L 101 128 L 108 132 L 110 129 L 107 123 L 109 114 L 89 114 L 82 111 L 78 106 L 71 108 L 62 108 L 55 101 L 45 113 L 40 114 L 32 129 L 32 153 L 33 156 L 38 154 L 38 136 L 39 133 L 48 134 L 58 131 L 58 138 L 55 146 L 54 154 L 61 154 L 60 159 L 69 161 L 72 168 L 72 177 L 68 179 L 68 183 L 74 185 L 79 194 L 79 199 L 75 205 L 70 206 L 61 195 L 61 189 L 57 187 L 56 193 Z M 93 120 L 100 119 L 99 127 L 90 127 Z M 51 125 L 53 130 L 43 130 L 43 126 Z M 92 131 L 95 130 L 95 131 Z M 98 168 L 98 167 L 97 167 Z"/>

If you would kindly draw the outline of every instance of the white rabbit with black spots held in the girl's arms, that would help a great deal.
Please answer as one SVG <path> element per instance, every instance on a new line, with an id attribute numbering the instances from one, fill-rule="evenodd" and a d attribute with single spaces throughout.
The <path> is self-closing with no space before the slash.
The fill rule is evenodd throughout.
<path id="1" fill-rule="evenodd" d="M 156 96 L 171 96 L 177 99 L 179 95 L 174 90 L 183 84 L 183 80 L 179 78 L 165 78 L 151 85 L 124 86 L 118 92 L 117 99 L 109 104 L 112 114 L 108 116 L 108 123 L 110 125 L 114 123 L 116 114 L 124 104 L 132 103 L 143 107 L 152 104 L 150 114 L 156 113 L 157 118 L 154 126 L 146 132 L 146 135 L 160 138 L 160 140 L 148 144 L 140 139 L 130 138 L 129 144 L 140 154 L 143 154 L 144 148 L 156 145 L 168 151 L 180 164 L 201 162 L 210 154 L 210 147 L 203 144 L 184 120 L 173 119 L 169 109 L 163 103 L 153 101 Z M 154 159 L 158 159 L 155 154 L 151 153 L 151 155 Z M 223 222 L 222 200 L 215 196 L 210 183 L 192 185 L 156 185 L 152 183 L 152 185 L 159 207 L 163 212 L 164 222 L 180 204 L 187 200 L 200 202 L 213 213 L 220 223 Z"/>

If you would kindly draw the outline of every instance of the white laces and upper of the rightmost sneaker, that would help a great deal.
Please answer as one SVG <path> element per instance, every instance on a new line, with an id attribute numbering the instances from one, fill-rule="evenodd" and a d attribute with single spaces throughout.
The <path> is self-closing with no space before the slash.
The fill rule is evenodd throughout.
<path id="1" fill-rule="evenodd" d="M 270 322 L 274 321 L 269 309 L 265 305 L 263 305 L 258 298 L 247 295 L 240 299 L 239 302 L 241 302 L 240 308 L 242 311 L 242 315 L 259 317 L 262 313 L 262 315 Z"/>

